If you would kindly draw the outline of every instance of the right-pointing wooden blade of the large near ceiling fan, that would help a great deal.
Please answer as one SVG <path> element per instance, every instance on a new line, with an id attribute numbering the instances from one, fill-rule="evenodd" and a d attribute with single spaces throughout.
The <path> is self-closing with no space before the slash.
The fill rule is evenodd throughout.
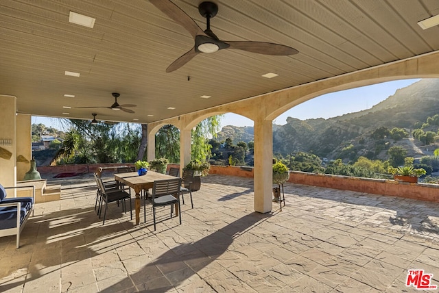
<path id="1" fill-rule="evenodd" d="M 294 55 L 299 53 L 296 49 L 292 47 L 285 46 L 284 44 L 274 44 L 272 42 L 228 42 L 224 41 L 226 44 L 230 44 L 228 49 L 238 49 L 243 51 L 248 51 L 252 53 L 259 53 L 264 55 Z"/>

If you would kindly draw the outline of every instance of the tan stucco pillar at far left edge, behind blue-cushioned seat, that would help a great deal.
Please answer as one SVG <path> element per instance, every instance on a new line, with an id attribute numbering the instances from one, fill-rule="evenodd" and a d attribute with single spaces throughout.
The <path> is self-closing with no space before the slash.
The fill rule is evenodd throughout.
<path id="1" fill-rule="evenodd" d="M 16 184 L 16 97 L 0 95 L 0 182 Z"/>

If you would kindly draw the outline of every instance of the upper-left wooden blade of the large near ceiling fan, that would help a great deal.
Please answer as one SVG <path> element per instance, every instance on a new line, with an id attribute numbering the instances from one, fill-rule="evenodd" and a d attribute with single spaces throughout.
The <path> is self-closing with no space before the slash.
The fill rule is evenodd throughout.
<path id="1" fill-rule="evenodd" d="M 197 35 L 205 35 L 204 31 L 195 23 L 195 21 L 171 1 L 150 0 L 150 2 L 152 5 L 156 6 L 158 10 L 161 10 L 161 12 L 169 16 L 169 18 L 189 31 L 193 38 Z"/>

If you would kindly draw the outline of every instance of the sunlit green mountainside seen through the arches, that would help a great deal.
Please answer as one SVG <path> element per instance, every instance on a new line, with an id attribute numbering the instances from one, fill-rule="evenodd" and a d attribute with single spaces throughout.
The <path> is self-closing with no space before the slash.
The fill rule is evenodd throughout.
<path id="1" fill-rule="evenodd" d="M 398 127 L 411 133 L 414 128 L 420 128 L 415 127 L 415 123 L 422 125 L 435 114 L 439 114 L 439 79 L 422 79 L 396 90 L 388 99 L 368 110 L 328 119 L 289 117 L 287 124 L 273 125 L 273 151 L 282 155 L 306 151 L 333 159 L 343 152 L 346 155 L 346 149 L 350 149 L 352 159 L 359 155 L 385 159 L 390 146 L 401 145 L 407 149 L 408 155 L 416 157 L 422 155 L 418 149 L 420 143 L 414 144 L 412 138 L 376 140 L 371 135 L 380 127 L 389 130 Z M 431 130 L 438 131 L 437 127 Z M 253 127 L 226 126 L 218 133 L 217 140 L 230 137 L 236 144 L 241 140 L 253 140 L 252 135 Z"/>

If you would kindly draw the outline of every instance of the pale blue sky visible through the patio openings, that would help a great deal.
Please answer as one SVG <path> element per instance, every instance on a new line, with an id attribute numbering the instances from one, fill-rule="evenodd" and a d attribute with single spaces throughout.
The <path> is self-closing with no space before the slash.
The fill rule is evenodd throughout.
<path id="1" fill-rule="evenodd" d="M 387 99 L 394 94 L 399 88 L 410 86 L 419 79 L 403 79 L 398 81 L 388 81 L 372 86 L 363 86 L 351 90 L 342 90 L 340 92 L 331 92 L 316 97 L 281 114 L 274 120 L 277 125 L 287 123 L 288 117 L 294 117 L 301 120 L 309 118 L 331 118 L 347 113 L 366 110 L 377 105 L 377 103 Z M 32 116 L 32 123 L 43 123 L 49 127 L 62 129 L 57 118 L 47 118 Z M 253 121 L 237 114 L 225 114 L 222 119 L 222 127 L 226 125 L 235 126 L 253 126 Z"/>

